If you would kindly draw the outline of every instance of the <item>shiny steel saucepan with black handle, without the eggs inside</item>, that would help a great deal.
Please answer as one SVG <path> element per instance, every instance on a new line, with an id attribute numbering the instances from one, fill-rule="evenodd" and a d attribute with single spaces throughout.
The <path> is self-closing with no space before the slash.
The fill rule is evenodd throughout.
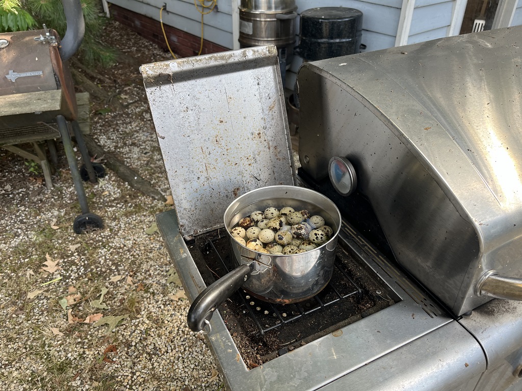
<path id="1" fill-rule="evenodd" d="M 295 210 L 306 209 L 312 215 L 321 215 L 326 225 L 334 229 L 334 234 L 312 251 L 291 255 L 259 253 L 232 237 L 230 230 L 241 218 L 254 211 L 264 211 L 269 206 L 291 206 Z M 217 307 L 240 287 L 260 300 L 289 304 L 315 296 L 328 284 L 334 270 L 341 214 L 337 206 L 322 194 L 295 186 L 256 189 L 232 202 L 223 219 L 236 268 L 194 300 L 187 315 L 188 326 L 193 331 L 202 331 Z"/>

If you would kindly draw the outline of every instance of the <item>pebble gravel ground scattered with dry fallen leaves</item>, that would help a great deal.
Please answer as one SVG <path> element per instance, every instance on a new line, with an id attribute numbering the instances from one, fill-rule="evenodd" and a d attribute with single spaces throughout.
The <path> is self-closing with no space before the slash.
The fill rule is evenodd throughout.
<path id="1" fill-rule="evenodd" d="M 91 79 L 124 108 L 91 96 L 91 135 L 167 196 L 138 66 L 169 54 L 117 22 L 106 29 L 120 62 L 98 70 L 113 83 Z M 0 389 L 222 388 L 203 337 L 186 326 L 189 303 L 153 227 L 172 206 L 108 170 L 85 184 L 105 228 L 75 235 L 80 208 L 58 153 L 48 190 L 38 166 L 0 149 Z"/>

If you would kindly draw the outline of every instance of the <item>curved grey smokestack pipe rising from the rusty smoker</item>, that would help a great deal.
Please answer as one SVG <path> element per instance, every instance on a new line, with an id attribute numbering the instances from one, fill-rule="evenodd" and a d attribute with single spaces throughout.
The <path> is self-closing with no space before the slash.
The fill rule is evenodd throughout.
<path id="1" fill-rule="evenodd" d="M 62 0 L 64 5 L 67 30 L 60 43 L 60 57 L 62 61 L 68 60 L 77 50 L 84 39 L 85 21 L 81 11 L 80 0 Z"/>

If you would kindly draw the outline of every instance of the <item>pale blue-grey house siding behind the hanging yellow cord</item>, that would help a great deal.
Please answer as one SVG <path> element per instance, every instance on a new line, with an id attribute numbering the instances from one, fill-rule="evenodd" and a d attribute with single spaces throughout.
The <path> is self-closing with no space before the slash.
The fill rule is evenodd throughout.
<path id="1" fill-rule="evenodd" d="M 129 9 L 151 19 L 162 20 L 165 25 L 175 27 L 195 36 L 201 36 L 201 14 L 194 6 L 194 0 L 109 0 L 117 6 Z M 218 11 L 213 11 L 203 18 L 203 38 L 218 45 L 232 48 L 232 3 L 231 0 L 218 0 Z M 200 8 L 201 9 L 201 8 Z M 205 12 L 206 10 L 204 10 Z M 176 37 L 168 36 L 172 42 Z"/>

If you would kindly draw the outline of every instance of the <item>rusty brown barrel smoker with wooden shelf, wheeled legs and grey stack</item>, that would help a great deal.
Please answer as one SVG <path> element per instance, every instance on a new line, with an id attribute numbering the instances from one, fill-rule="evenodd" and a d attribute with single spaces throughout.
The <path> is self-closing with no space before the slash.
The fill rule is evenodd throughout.
<path id="1" fill-rule="evenodd" d="M 96 183 L 103 166 L 93 167 L 78 124 L 78 108 L 72 77 L 67 67 L 85 32 L 84 16 L 78 0 L 64 0 L 67 31 L 64 39 L 45 27 L 37 31 L 0 34 L 0 148 L 40 162 L 46 186 L 50 189 L 51 167 L 46 157 L 46 142 L 52 162 L 57 164 L 54 139 L 63 142 L 82 214 L 73 228 L 81 234 L 103 227 L 101 217 L 90 213 L 82 176 Z M 57 125 L 57 130 L 51 124 Z M 72 128 L 84 160 L 81 173 L 70 139 Z M 17 144 L 31 143 L 36 155 Z"/>

